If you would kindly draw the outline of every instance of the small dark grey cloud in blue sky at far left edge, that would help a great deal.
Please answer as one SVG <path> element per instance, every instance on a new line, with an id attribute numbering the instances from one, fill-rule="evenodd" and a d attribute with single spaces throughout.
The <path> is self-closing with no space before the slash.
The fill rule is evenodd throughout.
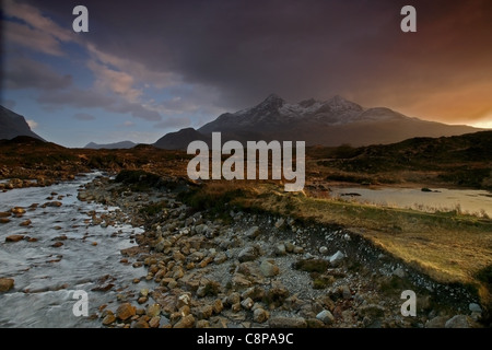
<path id="1" fill-rule="evenodd" d="M 50 67 L 27 57 L 12 58 L 5 70 L 5 88 L 59 90 L 72 85 L 70 74 L 61 75 Z"/>

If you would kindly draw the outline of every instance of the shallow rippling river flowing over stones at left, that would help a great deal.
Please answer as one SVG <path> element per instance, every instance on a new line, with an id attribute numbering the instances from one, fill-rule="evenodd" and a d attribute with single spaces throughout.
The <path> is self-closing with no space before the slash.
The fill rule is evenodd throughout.
<path id="1" fill-rule="evenodd" d="M 132 283 L 147 275 L 144 268 L 120 262 L 120 249 L 137 245 L 132 235 L 143 229 L 122 223 L 94 225 L 87 212 L 95 210 L 101 215 L 118 209 L 77 198 L 79 187 L 97 175 L 101 173 L 49 187 L 0 192 L 0 211 L 26 210 L 22 218 L 11 217 L 9 223 L 0 224 L 0 277 L 15 280 L 12 290 L 0 293 L 0 327 L 101 327 L 99 319 L 75 315 L 74 308 L 82 310 L 75 291 L 87 293 L 89 315 L 94 315 L 102 304 L 112 305 L 117 293 L 138 293 L 144 288 L 144 280 Z M 43 208 L 49 201 L 61 206 Z M 30 208 L 33 203 L 38 203 L 37 208 Z M 21 226 L 27 219 L 31 224 Z M 13 234 L 37 241 L 5 242 Z M 57 242 L 62 245 L 54 246 Z M 110 289 L 93 290 L 101 285 Z"/>

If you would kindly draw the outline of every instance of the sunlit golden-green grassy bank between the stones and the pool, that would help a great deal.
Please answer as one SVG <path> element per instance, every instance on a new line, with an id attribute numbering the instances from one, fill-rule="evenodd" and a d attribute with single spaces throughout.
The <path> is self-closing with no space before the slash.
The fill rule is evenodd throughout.
<path id="1" fill-rule="evenodd" d="M 492 220 L 459 211 L 427 213 L 286 194 L 272 183 L 207 183 L 188 203 L 227 213 L 232 207 L 338 224 L 371 240 L 394 257 L 443 283 L 471 284 L 491 301 Z"/>

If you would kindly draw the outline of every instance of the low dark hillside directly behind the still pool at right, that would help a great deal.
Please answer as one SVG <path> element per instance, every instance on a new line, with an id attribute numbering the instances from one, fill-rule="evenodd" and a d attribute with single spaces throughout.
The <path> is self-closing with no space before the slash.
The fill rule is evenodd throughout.
<path id="1" fill-rule="evenodd" d="M 410 182 L 420 176 L 423 183 L 435 178 L 460 187 L 492 189 L 491 145 L 492 130 L 360 148 L 313 147 L 307 154 L 318 165 L 331 170 L 328 179 L 332 180 L 371 174 L 378 174 L 383 180 L 380 174 L 399 172 L 397 182 L 406 176 L 410 176 Z"/>

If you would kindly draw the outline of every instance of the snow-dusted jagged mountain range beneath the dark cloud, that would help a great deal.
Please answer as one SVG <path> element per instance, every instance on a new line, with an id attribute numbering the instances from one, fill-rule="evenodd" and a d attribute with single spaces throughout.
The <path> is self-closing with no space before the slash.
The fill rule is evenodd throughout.
<path id="1" fill-rule="evenodd" d="M 469 126 L 446 125 L 405 116 L 386 107 L 364 108 L 335 96 L 291 104 L 272 94 L 260 104 L 224 113 L 198 130 L 167 133 L 156 145 L 186 149 L 192 140 L 210 140 L 213 131 L 226 140 L 305 141 L 306 145 L 353 147 L 388 144 L 414 137 L 444 137 L 480 131 Z"/>

